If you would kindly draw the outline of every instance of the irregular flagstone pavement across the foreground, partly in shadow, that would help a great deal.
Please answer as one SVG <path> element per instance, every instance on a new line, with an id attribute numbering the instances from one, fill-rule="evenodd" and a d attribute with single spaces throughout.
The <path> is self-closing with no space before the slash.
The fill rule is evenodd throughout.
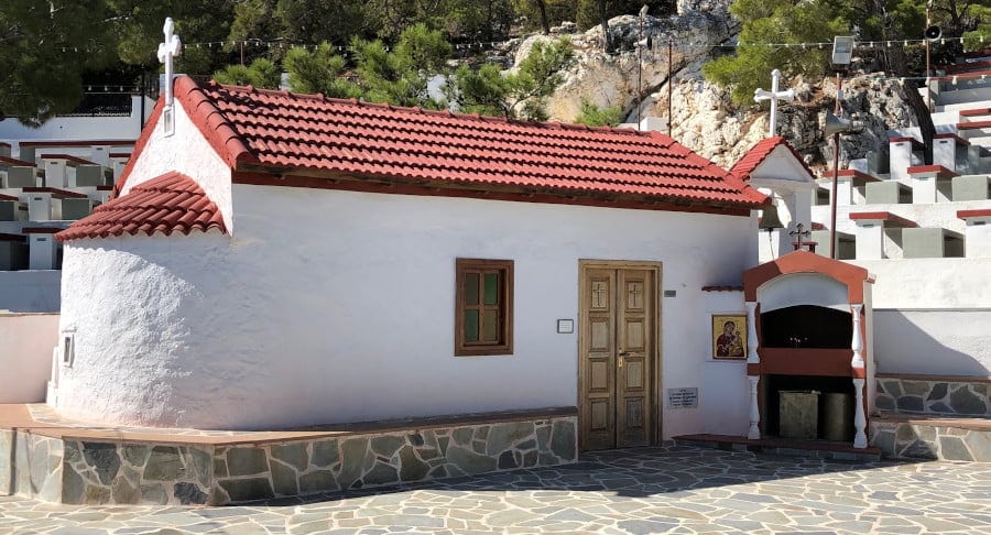
<path id="1" fill-rule="evenodd" d="M 667 445 L 556 468 L 226 507 L 0 496 L 0 533 L 991 533 L 991 463 L 771 457 Z"/>

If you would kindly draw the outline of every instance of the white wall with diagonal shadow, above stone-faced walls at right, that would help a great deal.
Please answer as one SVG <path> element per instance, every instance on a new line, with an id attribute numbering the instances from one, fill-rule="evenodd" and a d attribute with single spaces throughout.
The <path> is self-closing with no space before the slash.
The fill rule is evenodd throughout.
<path id="1" fill-rule="evenodd" d="M 874 309 L 879 373 L 991 376 L 991 309 Z"/>

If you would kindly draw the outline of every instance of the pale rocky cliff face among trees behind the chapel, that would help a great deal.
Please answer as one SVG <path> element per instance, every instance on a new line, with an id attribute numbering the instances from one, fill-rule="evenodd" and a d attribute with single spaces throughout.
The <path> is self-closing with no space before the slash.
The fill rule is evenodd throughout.
<path id="1" fill-rule="evenodd" d="M 573 121 L 582 100 L 599 107 L 619 105 L 628 112 L 630 122 L 636 122 L 638 116 L 667 118 L 669 101 L 672 137 L 717 164 L 731 167 L 767 134 L 769 105 L 737 108 L 728 90 L 706 83 L 701 76 L 701 66 L 711 59 L 714 47 L 733 43 L 739 31 L 728 6 L 725 0 L 682 0 L 680 14 L 669 19 L 646 17 L 642 30 L 636 17 L 614 18 L 609 31 L 618 52 L 612 54 L 602 52 L 602 33 L 598 26 L 571 34 L 576 62 L 548 102 L 552 119 Z M 557 32 L 569 30 L 565 26 Z M 650 37 L 652 46 L 638 48 L 641 35 Z M 525 57 L 533 42 L 549 39 L 556 37 L 538 35 L 524 40 L 515 48 L 516 58 Z M 673 44 L 669 79 L 668 41 Z M 823 129 L 826 111 L 835 105 L 835 81 L 782 81 L 784 87 L 795 89 L 798 98 L 778 107 L 778 134 L 814 170 L 825 168 L 827 163 L 831 165 L 832 144 L 825 139 Z M 770 85 L 769 72 L 767 88 Z M 842 167 L 870 151 L 885 153 L 889 130 L 916 124 L 896 83 L 861 75 L 847 80 L 843 89 L 846 117 L 862 121 L 865 128 L 861 133 L 841 137 Z M 638 98 L 638 94 L 643 97 Z"/>

